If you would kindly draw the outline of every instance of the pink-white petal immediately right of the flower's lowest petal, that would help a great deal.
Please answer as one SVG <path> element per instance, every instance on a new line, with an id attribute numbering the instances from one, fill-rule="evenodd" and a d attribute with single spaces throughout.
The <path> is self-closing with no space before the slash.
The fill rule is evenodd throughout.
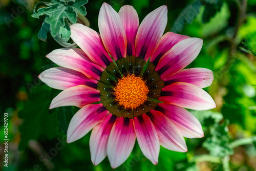
<path id="1" fill-rule="evenodd" d="M 158 163 L 160 144 L 152 121 L 145 114 L 135 117 L 134 130 L 142 153 L 156 165 Z"/>

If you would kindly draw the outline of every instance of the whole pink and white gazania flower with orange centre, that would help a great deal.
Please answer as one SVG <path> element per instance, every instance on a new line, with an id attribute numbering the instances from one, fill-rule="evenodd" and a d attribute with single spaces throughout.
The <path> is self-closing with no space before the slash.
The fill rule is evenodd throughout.
<path id="1" fill-rule="evenodd" d="M 167 32 L 167 7 L 149 13 L 139 25 L 132 6 L 117 13 L 104 3 L 99 12 L 99 32 L 71 26 L 71 38 L 81 48 L 57 49 L 47 55 L 57 68 L 39 78 L 63 90 L 50 109 L 74 105 L 67 141 L 92 130 L 93 164 L 108 156 L 113 168 L 131 154 L 137 138 L 142 153 L 158 163 L 160 145 L 186 152 L 183 137 L 200 138 L 199 121 L 187 109 L 216 107 L 202 88 L 210 86 L 212 72 L 184 69 L 199 54 L 203 40 Z"/>

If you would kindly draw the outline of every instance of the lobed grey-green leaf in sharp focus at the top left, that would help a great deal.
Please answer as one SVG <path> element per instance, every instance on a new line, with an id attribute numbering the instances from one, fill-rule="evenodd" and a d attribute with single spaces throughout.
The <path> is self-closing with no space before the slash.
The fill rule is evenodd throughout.
<path id="1" fill-rule="evenodd" d="M 52 0 L 51 3 L 40 2 L 36 4 L 32 17 L 38 18 L 39 16 L 46 15 L 42 28 L 38 33 L 38 38 L 46 41 L 47 28 L 49 27 L 48 31 L 61 46 L 74 46 L 75 44 L 67 42 L 71 35 L 69 26 L 77 22 L 78 14 L 87 14 L 86 8 L 83 6 L 87 3 L 88 0 L 77 0 L 75 2 Z"/>

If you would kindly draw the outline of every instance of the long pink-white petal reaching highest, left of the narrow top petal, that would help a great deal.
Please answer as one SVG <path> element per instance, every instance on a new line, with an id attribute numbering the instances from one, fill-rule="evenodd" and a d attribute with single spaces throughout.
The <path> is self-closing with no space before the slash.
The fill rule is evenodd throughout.
<path id="1" fill-rule="evenodd" d="M 107 3 L 99 10 L 99 33 L 106 50 L 115 59 L 126 57 L 126 36 L 118 13 Z"/>

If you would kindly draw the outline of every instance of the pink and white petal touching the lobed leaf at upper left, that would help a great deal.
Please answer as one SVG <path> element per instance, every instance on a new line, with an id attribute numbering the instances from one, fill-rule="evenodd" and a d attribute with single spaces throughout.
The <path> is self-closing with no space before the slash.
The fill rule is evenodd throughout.
<path id="1" fill-rule="evenodd" d="M 102 68 L 110 64 L 112 59 L 104 49 L 99 33 L 81 24 L 71 25 L 70 29 L 71 38 L 93 62 Z"/>

